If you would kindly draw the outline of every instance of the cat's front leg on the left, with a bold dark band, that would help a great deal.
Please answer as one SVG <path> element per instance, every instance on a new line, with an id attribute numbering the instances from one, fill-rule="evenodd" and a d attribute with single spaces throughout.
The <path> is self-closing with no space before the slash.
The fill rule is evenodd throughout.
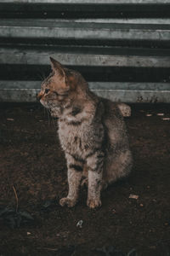
<path id="1" fill-rule="evenodd" d="M 83 162 L 76 160 L 71 154 L 65 154 L 67 160 L 68 168 L 68 183 L 69 183 L 69 193 L 67 197 L 62 198 L 59 204 L 64 207 L 74 207 L 77 203 L 78 190 L 80 186 L 80 181 L 82 178 Z"/>

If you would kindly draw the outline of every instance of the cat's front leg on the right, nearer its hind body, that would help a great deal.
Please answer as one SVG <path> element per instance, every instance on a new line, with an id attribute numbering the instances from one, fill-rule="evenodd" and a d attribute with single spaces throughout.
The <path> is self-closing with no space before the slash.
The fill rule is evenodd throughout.
<path id="1" fill-rule="evenodd" d="M 102 189 L 102 176 L 104 166 L 104 153 L 97 151 L 87 158 L 88 165 L 88 201 L 90 208 L 100 207 L 100 191 Z"/>

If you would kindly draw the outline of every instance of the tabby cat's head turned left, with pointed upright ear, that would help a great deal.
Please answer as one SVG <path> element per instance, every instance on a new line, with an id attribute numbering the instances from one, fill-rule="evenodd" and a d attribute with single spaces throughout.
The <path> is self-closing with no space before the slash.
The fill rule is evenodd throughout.
<path id="1" fill-rule="evenodd" d="M 52 115 L 59 116 L 63 108 L 77 97 L 77 80 L 81 74 L 63 67 L 50 57 L 52 73 L 42 82 L 37 98 Z"/>

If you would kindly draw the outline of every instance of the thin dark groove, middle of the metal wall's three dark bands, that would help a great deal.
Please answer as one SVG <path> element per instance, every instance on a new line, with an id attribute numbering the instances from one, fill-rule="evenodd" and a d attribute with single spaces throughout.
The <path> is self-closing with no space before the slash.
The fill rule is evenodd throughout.
<path id="1" fill-rule="evenodd" d="M 162 49 L 163 51 L 165 49 L 170 49 L 170 42 L 169 40 L 129 40 L 129 39 L 114 39 L 114 40 L 108 40 L 108 39 L 78 39 L 78 38 L 0 38 L 0 46 L 6 46 L 6 47 L 33 47 L 36 48 L 42 48 L 48 46 L 48 49 L 52 49 L 53 47 L 57 49 L 61 46 L 66 47 L 94 47 L 96 49 L 99 49 L 99 47 L 105 47 L 105 49 L 110 47 L 123 47 L 124 49 L 128 48 L 139 48 L 139 49 Z M 102 51 L 101 51 L 102 54 Z"/>

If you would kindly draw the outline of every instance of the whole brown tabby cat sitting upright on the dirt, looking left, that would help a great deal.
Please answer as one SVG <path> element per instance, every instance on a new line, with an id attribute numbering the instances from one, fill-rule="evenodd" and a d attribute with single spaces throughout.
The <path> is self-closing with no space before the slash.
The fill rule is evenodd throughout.
<path id="1" fill-rule="evenodd" d="M 52 73 L 38 98 L 58 118 L 59 141 L 65 152 L 69 192 L 59 204 L 74 207 L 82 177 L 88 182 L 87 205 L 100 207 L 100 192 L 133 165 L 123 116 L 130 107 L 96 96 L 77 71 L 50 57 Z"/>

